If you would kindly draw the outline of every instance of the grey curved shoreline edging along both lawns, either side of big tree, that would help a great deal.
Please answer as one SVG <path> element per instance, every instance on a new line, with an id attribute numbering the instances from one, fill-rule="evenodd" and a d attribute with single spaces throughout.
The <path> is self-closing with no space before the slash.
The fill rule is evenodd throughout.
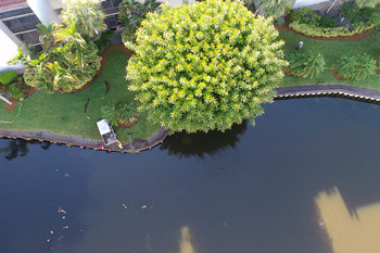
<path id="1" fill-rule="evenodd" d="M 331 85 L 303 85 L 277 88 L 276 100 L 304 98 L 304 97 L 331 97 L 340 96 L 347 99 L 365 100 L 367 102 L 380 102 L 380 90 L 354 87 L 341 84 Z M 143 150 L 152 149 L 153 147 L 162 143 L 168 130 L 161 128 L 156 134 L 148 139 L 136 139 L 131 144 L 123 143 L 123 149 L 119 149 L 116 144 L 111 147 L 99 148 L 99 140 L 91 140 L 76 136 L 56 135 L 46 130 L 9 130 L 0 129 L 0 138 L 10 139 L 25 139 L 25 140 L 38 140 L 49 141 L 58 144 L 66 144 L 68 147 L 79 147 L 93 150 L 103 150 L 107 152 L 122 152 L 134 153 Z"/>

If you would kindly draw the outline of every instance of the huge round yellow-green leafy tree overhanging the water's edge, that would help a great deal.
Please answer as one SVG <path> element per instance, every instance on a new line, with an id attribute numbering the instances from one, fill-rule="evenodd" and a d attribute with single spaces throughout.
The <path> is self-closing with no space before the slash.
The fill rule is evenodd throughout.
<path id="1" fill-rule="evenodd" d="M 127 66 L 140 110 L 176 131 L 226 130 L 263 114 L 283 77 L 271 18 L 240 1 L 206 0 L 150 13 Z"/>

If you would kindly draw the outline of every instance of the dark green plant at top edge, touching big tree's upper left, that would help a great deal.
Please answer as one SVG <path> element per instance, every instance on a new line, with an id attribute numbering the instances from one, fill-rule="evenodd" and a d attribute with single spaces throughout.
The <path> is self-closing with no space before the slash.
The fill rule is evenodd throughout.
<path id="1" fill-rule="evenodd" d="M 141 3 L 139 0 L 123 0 L 119 4 L 118 18 L 125 24 L 122 39 L 123 42 L 136 40 L 136 30 L 140 27 L 141 21 L 147 17 L 147 13 L 159 10 L 161 2 L 147 0 Z"/>

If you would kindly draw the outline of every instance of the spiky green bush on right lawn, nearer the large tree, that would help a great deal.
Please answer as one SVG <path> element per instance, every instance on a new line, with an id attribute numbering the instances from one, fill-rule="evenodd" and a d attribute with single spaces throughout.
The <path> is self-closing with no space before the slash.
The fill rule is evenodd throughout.
<path id="1" fill-rule="evenodd" d="M 320 53 L 295 52 L 289 58 L 289 71 L 299 77 L 314 78 L 325 71 L 325 58 Z"/>

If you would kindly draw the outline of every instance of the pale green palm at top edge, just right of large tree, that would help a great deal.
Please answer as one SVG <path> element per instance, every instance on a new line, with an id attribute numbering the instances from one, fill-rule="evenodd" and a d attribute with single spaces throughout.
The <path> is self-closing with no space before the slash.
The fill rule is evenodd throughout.
<path id="1" fill-rule="evenodd" d="M 287 9 L 292 9 L 295 0 L 257 0 L 256 5 L 265 16 L 279 17 Z"/>

